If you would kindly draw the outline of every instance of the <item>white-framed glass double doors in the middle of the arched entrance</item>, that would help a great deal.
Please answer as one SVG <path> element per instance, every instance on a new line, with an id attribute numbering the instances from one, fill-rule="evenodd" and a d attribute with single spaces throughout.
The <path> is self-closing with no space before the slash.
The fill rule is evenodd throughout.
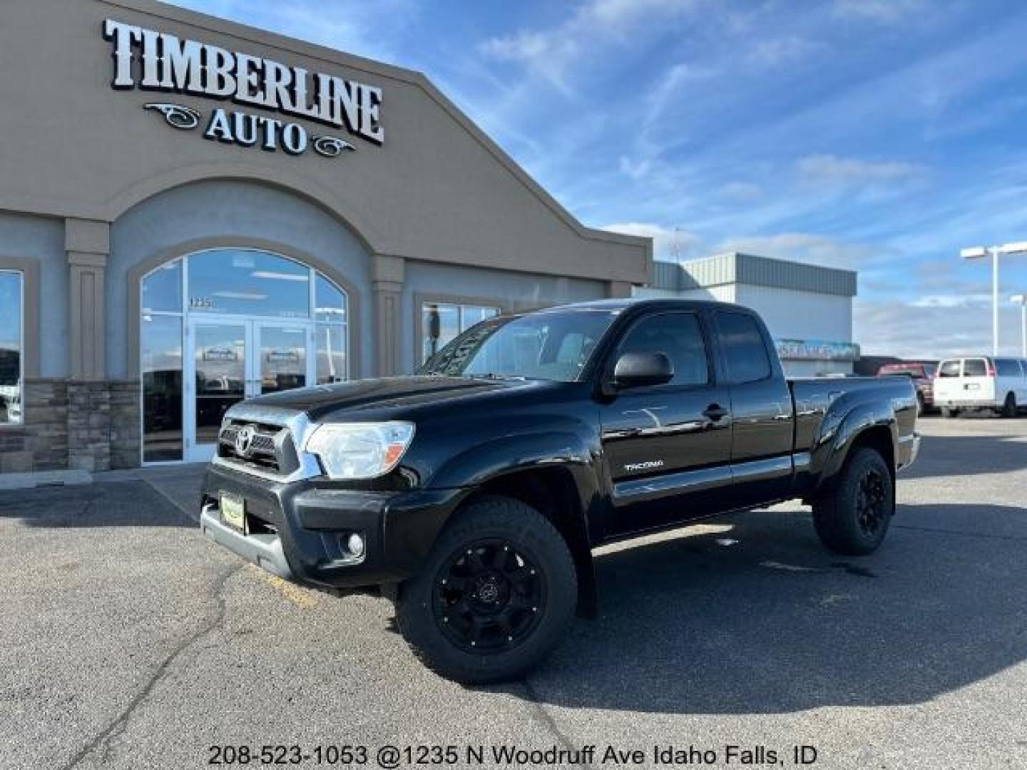
<path id="1" fill-rule="evenodd" d="M 245 398 L 312 382 L 310 324 L 191 319 L 186 333 L 186 460 L 214 456 L 221 421 Z"/>

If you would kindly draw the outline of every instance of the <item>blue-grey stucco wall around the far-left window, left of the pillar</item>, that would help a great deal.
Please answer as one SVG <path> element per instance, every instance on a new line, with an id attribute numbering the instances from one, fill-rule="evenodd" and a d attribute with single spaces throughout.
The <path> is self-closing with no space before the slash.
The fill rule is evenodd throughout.
<path id="1" fill-rule="evenodd" d="M 39 376 L 68 375 L 68 259 L 64 222 L 0 211 L 0 258 L 39 265 Z M 27 297 L 26 301 L 32 298 Z"/>

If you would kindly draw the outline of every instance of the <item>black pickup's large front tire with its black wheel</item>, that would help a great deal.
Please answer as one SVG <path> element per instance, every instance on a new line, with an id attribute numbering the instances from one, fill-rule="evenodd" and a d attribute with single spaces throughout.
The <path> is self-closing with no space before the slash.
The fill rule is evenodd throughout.
<path id="1" fill-rule="evenodd" d="M 482 497 L 454 514 L 420 574 L 400 586 L 396 622 L 421 661 L 463 684 L 535 667 L 574 618 L 567 543 L 534 508 Z"/>

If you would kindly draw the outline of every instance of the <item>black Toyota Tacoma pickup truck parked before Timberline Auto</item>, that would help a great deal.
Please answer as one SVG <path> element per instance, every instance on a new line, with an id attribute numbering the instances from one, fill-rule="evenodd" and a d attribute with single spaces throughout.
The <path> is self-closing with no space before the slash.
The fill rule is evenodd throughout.
<path id="1" fill-rule="evenodd" d="M 569 305 L 483 321 L 412 377 L 233 407 L 200 526 L 283 578 L 381 586 L 427 665 L 494 682 L 595 614 L 603 543 L 801 498 L 828 548 L 870 553 L 916 407 L 908 378 L 786 380 L 734 305 Z"/>

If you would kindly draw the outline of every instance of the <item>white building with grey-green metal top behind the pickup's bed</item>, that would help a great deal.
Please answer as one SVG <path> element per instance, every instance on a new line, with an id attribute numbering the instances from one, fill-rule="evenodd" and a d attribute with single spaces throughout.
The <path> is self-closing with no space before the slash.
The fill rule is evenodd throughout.
<path id="1" fill-rule="evenodd" d="M 851 374 L 860 357 L 852 342 L 851 270 L 731 252 L 682 263 L 653 263 L 649 286 L 637 297 L 684 297 L 733 302 L 763 316 L 792 377 Z"/>

